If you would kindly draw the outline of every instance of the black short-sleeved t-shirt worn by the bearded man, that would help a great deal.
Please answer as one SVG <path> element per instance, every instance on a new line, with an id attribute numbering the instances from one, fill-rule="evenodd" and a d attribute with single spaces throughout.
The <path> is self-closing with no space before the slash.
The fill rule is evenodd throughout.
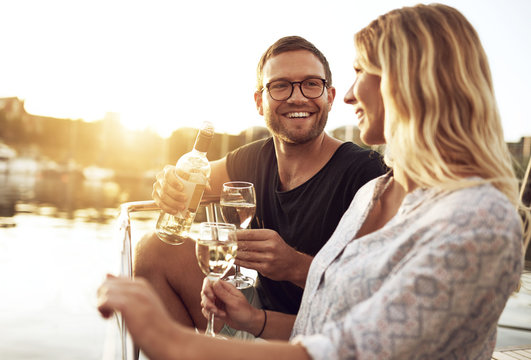
<path id="1" fill-rule="evenodd" d="M 279 191 L 272 138 L 227 155 L 230 179 L 255 186 L 256 216 L 251 228 L 275 230 L 288 245 L 311 256 L 328 241 L 358 189 L 384 169 L 379 154 L 346 142 L 311 179 L 295 189 Z M 303 290 L 293 283 L 258 274 L 256 288 L 264 308 L 288 314 L 299 310 Z"/>

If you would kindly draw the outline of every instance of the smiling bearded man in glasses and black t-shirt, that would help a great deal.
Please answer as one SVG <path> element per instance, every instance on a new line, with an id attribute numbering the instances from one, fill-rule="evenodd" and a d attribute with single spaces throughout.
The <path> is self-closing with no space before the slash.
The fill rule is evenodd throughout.
<path id="1" fill-rule="evenodd" d="M 238 233 L 236 262 L 258 271 L 258 300 L 266 309 L 297 313 L 313 256 L 356 191 L 384 172 L 376 153 L 324 132 L 335 94 L 328 62 L 313 44 L 297 36 L 279 39 L 260 59 L 254 94 L 272 137 L 211 163 L 210 193 L 219 194 L 230 180 L 255 185 L 253 230 Z M 166 167 L 157 175 L 153 198 L 176 213 L 183 207 L 180 189 L 173 167 Z M 192 241 L 171 246 L 155 235 L 142 239 L 134 274 L 148 279 L 177 321 L 205 328 L 204 275 Z"/>

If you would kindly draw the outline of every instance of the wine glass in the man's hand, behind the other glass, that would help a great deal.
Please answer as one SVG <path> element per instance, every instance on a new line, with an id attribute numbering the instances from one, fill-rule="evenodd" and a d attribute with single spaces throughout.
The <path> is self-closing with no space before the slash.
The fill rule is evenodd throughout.
<path id="1" fill-rule="evenodd" d="M 256 195 L 254 185 L 246 181 L 229 181 L 223 184 L 219 205 L 221 216 L 225 222 L 236 225 L 239 229 L 247 229 L 256 212 Z M 240 272 L 236 265 L 235 273 L 229 276 L 230 281 L 238 289 L 246 289 L 254 284 L 254 280 Z"/>

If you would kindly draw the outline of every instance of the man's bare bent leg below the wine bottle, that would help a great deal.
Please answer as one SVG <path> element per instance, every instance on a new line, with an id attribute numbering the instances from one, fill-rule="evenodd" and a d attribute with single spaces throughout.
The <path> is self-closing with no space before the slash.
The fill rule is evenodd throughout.
<path id="1" fill-rule="evenodd" d="M 168 245 L 155 234 L 144 236 L 135 247 L 133 274 L 151 283 L 176 321 L 206 328 L 201 313 L 205 275 L 197 264 L 194 241 Z"/>

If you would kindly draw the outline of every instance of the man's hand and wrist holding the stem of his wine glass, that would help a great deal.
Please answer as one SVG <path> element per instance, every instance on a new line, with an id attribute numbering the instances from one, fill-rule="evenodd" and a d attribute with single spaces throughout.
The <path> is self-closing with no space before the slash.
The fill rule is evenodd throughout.
<path id="1" fill-rule="evenodd" d="M 304 288 L 312 259 L 286 244 L 274 230 L 238 230 L 236 264 L 272 280 L 291 281 Z"/>

